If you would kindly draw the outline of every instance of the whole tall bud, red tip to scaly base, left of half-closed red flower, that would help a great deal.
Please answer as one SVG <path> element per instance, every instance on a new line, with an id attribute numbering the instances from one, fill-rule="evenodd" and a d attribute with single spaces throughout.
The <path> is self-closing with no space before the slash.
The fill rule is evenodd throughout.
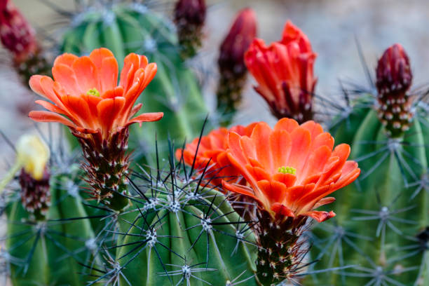
<path id="1" fill-rule="evenodd" d="M 220 46 L 217 61 L 220 74 L 217 107 L 226 116 L 232 115 L 241 102 L 241 92 L 247 75 L 244 55 L 256 34 L 256 15 L 252 9 L 245 8 L 236 16 Z"/>

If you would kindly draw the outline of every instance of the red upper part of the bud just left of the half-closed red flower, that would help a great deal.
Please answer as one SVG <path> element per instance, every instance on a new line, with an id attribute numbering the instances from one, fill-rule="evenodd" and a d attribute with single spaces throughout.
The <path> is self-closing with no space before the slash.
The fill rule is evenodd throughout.
<path id="1" fill-rule="evenodd" d="M 246 74 L 244 55 L 256 34 L 256 15 L 252 9 L 245 8 L 236 16 L 220 47 L 218 64 L 222 76 L 238 78 Z"/>

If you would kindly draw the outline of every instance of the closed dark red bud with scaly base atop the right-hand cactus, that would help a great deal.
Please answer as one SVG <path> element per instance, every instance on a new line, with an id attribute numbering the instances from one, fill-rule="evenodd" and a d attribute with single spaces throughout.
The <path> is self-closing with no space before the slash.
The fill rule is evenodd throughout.
<path id="1" fill-rule="evenodd" d="M 399 43 L 388 48 L 376 68 L 379 91 L 379 118 L 391 137 L 400 137 L 409 129 L 413 114 L 407 94 L 413 76 L 409 58 Z"/>

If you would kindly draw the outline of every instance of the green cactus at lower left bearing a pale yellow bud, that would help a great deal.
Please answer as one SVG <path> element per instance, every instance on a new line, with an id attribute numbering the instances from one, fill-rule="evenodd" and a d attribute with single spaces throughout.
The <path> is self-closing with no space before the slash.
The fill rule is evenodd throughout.
<path id="1" fill-rule="evenodd" d="M 94 253 L 87 247 L 94 233 L 76 192 L 79 169 L 62 151 L 53 152 L 48 164 L 52 151 L 38 138 L 25 135 L 16 146 L 20 188 L 3 196 L 8 220 L 2 256 L 13 285 L 83 285 L 76 261 L 85 264 Z"/>

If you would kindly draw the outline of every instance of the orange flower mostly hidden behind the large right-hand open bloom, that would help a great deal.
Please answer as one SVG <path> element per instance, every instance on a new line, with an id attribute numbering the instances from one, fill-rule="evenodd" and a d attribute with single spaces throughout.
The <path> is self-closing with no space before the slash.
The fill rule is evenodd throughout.
<path id="1" fill-rule="evenodd" d="M 226 149 L 228 149 L 226 141 L 228 133 L 232 131 L 236 132 L 238 135 L 250 136 L 255 124 L 256 123 L 252 123 L 247 126 L 237 125 L 230 130 L 226 128 L 212 130 L 208 135 L 201 137 L 199 146 L 199 138 L 196 138 L 193 139 L 190 144 L 186 144 L 184 150 L 178 149 L 176 151 L 176 157 L 179 160 L 182 158 L 183 153 L 184 162 L 188 165 L 192 165 L 196 156 L 194 168 L 198 170 L 198 172 L 203 172 L 208 164 L 205 171 L 206 174 L 208 174 L 206 177 L 210 179 L 212 185 L 220 186 L 222 184 L 222 179 L 230 181 L 231 179 L 236 179 L 236 177 L 240 175 L 236 168 L 231 165 L 226 155 Z"/>

